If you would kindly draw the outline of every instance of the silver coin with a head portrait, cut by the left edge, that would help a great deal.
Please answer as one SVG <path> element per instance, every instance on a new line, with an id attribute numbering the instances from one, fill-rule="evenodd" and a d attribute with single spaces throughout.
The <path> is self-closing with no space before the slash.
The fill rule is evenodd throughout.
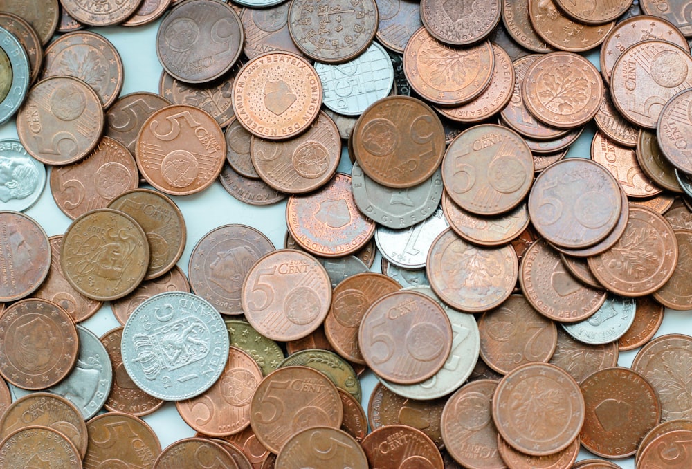
<path id="1" fill-rule="evenodd" d="M 19 140 L 0 140 L 0 210 L 31 207 L 46 187 L 46 167 Z"/>

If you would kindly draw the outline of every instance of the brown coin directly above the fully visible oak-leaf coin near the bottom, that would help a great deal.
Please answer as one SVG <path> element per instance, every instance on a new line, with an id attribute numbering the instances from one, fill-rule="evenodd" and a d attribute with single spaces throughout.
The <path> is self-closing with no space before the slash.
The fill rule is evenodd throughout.
<path id="1" fill-rule="evenodd" d="M 512 295 L 484 313 L 478 331 L 481 358 L 501 374 L 527 363 L 546 363 L 558 340 L 555 323 L 538 314 L 522 295 Z"/>

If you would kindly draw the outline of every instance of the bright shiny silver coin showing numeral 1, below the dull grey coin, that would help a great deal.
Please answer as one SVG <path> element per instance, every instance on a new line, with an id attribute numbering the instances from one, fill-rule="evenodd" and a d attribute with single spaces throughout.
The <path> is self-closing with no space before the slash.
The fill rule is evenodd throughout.
<path id="1" fill-rule="evenodd" d="M 378 226 L 375 243 L 382 256 L 392 264 L 401 268 L 421 268 L 426 265 L 432 241 L 447 228 L 444 213 L 437 208 L 430 217 L 406 230 Z"/>

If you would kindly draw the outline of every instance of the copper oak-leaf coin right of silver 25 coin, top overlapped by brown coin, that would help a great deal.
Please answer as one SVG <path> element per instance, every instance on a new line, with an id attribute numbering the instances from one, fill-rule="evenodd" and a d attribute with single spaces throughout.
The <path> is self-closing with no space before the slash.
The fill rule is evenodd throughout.
<path id="1" fill-rule="evenodd" d="M 489 41 L 452 48 L 426 28 L 417 30 L 403 51 L 403 71 L 412 89 L 443 106 L 464 104 L 480 95 L 490 84 L 494 64 Z"/>

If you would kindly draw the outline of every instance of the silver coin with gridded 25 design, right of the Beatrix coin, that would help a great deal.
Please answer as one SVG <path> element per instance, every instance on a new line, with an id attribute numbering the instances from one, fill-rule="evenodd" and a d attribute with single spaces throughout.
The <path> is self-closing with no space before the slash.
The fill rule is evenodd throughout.
<path id="1" fill-rule="evenodd" d="M 389 94 L 394 67 L 384 48 L 372 42 L 364 53 L 345 64 L 315 62 L 322 82 L 322 103 L 345 116 L 358 116 Z"/>

